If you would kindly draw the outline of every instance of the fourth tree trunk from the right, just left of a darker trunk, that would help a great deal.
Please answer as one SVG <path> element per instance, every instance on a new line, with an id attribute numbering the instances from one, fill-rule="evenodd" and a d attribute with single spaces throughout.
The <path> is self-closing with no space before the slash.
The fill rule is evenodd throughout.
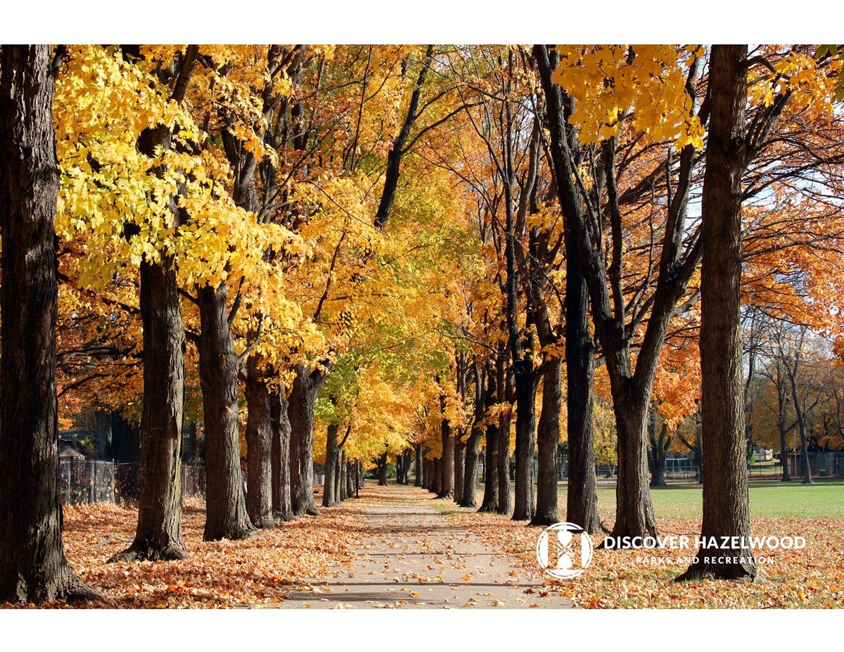
<path id="1" fill-rule="evenodd" d="M 542 414 L 537 427 L 539 469 L 536 487 L 536 513 L 532 525 L 555 524 L 557 517 L 557 446 L 560 443 L 560 407 L 563 391 L 560 384 L 561 358 L 545 362 L 542 390 Z"/>

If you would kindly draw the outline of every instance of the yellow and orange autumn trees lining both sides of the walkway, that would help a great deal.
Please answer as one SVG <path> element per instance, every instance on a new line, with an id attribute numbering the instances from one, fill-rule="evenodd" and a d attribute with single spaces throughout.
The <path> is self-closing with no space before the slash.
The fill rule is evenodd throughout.
<path id="1" fill-rule="evenodd" d="M 91 408 L 140 423 L 117 559 L 187 556 L 196 421 L 207 541 L 316 515 L 315 458 L 326 507 L 393 456 L 474 507 L 483 454 L 480 509 L 553 523 L 561 440 L 566 519 L 597 533 L 611 406 L 612 533 L 655 535 L 652 406 L 674 429 L 697 378 L 704 533 L 749 531 L 740 306 L 840 332 L 840 68 L 806 46 L 4 46 L 0 598 L 94 593 L 54 486 L 57 420 Z"/>

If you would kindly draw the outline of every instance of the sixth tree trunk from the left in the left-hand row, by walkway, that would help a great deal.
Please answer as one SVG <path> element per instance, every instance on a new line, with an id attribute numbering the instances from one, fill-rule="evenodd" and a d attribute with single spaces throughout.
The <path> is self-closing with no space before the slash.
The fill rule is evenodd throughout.
<path id="1" fill-rule="evenodd" d="M 290 503 L 294 516 L 317 516 L 314 504 L 314 405 L 326 374 L 308 372 L 304 364 L 296 365 L 293 388 L 289 396 L 290 420 Z"/>

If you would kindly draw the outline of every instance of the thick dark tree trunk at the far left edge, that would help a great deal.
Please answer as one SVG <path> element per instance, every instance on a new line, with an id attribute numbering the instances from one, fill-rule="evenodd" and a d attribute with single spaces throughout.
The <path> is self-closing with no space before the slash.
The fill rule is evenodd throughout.
<path id="1" fill-rule="evenodd" d="M 96 599 L 62 548 L 56 397 L 59 172 L 49 46 L 0 63 L 0 602 Z"/>

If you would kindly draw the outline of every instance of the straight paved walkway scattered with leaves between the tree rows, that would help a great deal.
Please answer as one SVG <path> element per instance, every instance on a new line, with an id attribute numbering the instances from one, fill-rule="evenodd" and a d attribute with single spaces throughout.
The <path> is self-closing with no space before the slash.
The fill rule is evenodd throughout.
<path id="1" fill-rule="evenodd" d="M 368 487 L 369 488 L 369 487 Z M 565 598 L 537 600 L 542 584 L 525 579 L 503 554 L 490 550 L 436 508 L 421 490 L 377 487 L 365 513 L 371 536 L 351 571 L 293 591 L 285 608 L 560 608 Z M 433 501 L 431 501 L 433 503 Z M 528 593 L 525 591 L 528 590 Z"/>

